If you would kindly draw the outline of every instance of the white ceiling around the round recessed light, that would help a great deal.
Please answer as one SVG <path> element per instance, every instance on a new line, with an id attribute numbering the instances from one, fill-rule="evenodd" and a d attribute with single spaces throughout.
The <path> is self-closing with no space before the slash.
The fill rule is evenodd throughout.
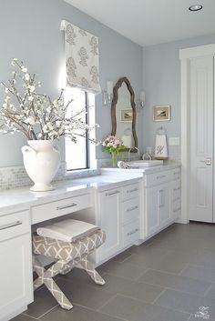
<path id="1" fill-rule="evenodd" d="M 215 0 L 65 0 L 139 45 L 215 34 Z M 203 5 L 190 12 L 189 5 Z"/>

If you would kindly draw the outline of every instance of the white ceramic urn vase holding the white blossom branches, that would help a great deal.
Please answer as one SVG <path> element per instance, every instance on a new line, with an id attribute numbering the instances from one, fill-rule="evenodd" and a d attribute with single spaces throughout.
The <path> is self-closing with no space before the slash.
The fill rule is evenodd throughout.
<path id="1" fill-rule="evenodd" d="M 31 191 L 44 192 L 54 189 L 50 185 L 60 165 L 60 153 L 51 140 L 28 140 L 22 147 L 27 175 L 35 183 Z"/>

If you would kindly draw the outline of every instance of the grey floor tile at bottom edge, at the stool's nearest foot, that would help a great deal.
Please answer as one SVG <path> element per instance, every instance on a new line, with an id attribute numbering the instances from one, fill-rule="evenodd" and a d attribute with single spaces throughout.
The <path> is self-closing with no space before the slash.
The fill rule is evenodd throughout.
<path id="1" fill-rule="evenodd" d="M 73 308 L 69 311 L 63 310 L 57 306 L 54 310 L 52 310 L 51 312 L 43 316 L 41 320 L 43 321 L 121 321 L 122 319 L 118 319 L 113 316 L 107 316 L 101 312 L 89 310 L 83 306 L 73 306 Z"/>

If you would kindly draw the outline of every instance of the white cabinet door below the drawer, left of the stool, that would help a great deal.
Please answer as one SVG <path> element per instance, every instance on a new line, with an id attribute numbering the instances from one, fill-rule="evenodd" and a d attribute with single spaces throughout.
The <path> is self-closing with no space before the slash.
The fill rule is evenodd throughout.
<path id="1" fill-rule="evenodd" d="M 0 242 L 0 316 L 13 312 L 33 301 L 30 235 L 16 236 Z"/>

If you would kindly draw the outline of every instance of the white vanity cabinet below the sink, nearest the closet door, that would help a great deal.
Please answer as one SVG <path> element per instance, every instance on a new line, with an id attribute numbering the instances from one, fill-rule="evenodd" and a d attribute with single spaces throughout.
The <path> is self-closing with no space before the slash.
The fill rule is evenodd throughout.
<path id="1" fill-rule="evenodd" d="M 180 214 L 180 169 L 145 174 L 146 237 L 173 223 Z"/>

